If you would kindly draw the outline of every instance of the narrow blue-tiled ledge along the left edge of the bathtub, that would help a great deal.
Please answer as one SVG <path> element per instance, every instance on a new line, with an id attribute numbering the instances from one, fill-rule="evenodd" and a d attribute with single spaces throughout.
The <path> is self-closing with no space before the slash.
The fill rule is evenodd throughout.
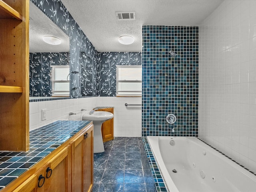
<path id="1" fill-rule="evenodd" d="M 168 188 L 165 184 L 164 178 L 161 174 L 160 169 L 158 168 L 158 165 L 156 163 L 156 160 L 154 158 L 153 152 L 150 148 L 150 145 L 148 143 L 148 139 L 146 137 L 142 137 L 142 142 L 144 144 L 144 148 L 146 150 L 148 163 L 150 165 L 150 169 L 154 178 L 156 190 L 158 192 L 168 192 Z"/>

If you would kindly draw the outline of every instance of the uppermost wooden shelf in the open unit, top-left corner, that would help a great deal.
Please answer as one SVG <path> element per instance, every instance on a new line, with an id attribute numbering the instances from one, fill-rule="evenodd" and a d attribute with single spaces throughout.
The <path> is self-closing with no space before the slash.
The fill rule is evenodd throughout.
<path id="1" fill-rule="evenodd" d="M 0 18 L 16 18 L 22 21 L 22 15 L 3 0 L 0 0 Z"/>

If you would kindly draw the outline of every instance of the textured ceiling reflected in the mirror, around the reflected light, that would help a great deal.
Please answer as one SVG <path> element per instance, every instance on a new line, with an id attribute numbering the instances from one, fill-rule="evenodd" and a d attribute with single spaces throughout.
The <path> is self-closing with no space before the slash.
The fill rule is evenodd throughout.
<path id="1" fill-rule="evenodd" d="M 68 52 L 69 37 L 56 26 L 33 3 L 29 7 L 29 52 Z M 43 41 L 44 36 L 58 37 L 60 45 L 50 45 Z"/>

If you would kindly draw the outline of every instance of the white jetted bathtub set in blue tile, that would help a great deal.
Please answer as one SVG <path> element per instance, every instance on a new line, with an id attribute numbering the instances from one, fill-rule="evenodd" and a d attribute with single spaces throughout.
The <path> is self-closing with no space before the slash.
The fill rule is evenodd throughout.
<path id="1" fill-rule="evenodd" d="M 254 174 L 198 138 L 147 139 L 170 192 L 256 192 Z"/>

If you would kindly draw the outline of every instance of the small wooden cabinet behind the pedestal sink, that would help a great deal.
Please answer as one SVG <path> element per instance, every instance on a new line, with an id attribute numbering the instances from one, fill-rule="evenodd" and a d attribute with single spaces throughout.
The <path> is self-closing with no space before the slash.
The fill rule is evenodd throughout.
<path id="1" fill-rule="evenodd" d="M 102 108 L 102 109 L 98 109 L 97 111 L 106 111 L 114 114 L 114 108 Z M 101 133 L 102 133 L 103 142 L 114 139 L 114 118 L 102 123 Z"/>

